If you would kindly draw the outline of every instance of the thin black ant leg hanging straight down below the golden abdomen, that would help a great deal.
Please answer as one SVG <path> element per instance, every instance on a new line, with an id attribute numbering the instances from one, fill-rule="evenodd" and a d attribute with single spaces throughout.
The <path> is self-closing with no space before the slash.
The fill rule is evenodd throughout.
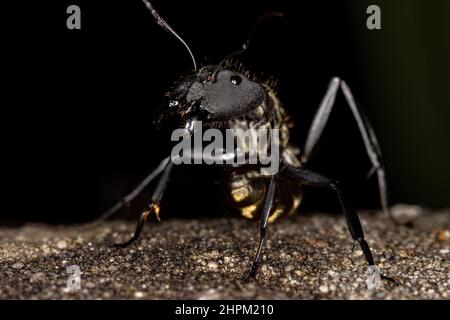
<path id="1" fill-rule="evenodd" d="M 250 279 L 255 279 L 259 266 L 261 265 L 261 255 L 264 243 L 266 242 L 267 225 L 269 222 L 270 211 L 272 210 L 273 200 L 275 197 L 275 189 L 277 184 L 277 175 L 274 174 L 270 179 L 269 190 L 267 191 L 266 199 L 264 201 L 264 207 L 261 214 L 261 221 L 259 224 L 259 246 L 256 252 L 255 259 L 253 260 L 252 269 L 249 274 Z"/>

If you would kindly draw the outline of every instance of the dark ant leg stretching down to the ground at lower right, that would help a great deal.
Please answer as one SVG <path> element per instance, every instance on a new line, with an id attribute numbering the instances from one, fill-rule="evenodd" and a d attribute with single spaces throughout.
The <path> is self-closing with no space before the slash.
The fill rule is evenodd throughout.
<path id="1" fill-rule="evenodd" d="M 364 239 L 364 231 L 361 226 L 359 217 L 348 198 L 344 196 L 341 188 L 338 187 L 338 183 L 314 171 L 296 168 L 291 165 L 286 166 L 285 172 L 291 178 L 294 178 L 305 185 L 327 187 L 337 194 L 339 202 L 341 203 L 342 210 L 345 214 L 348 230 L 350 231 L 353 240 L 357 241 L 361 246 L 361 249 L 364 253 L 364 256 L 366 257 L 369 266 L 374 266 L 375 262 L 373 260 L 372 252 L 370 251 L 369 245 Z M 387 277 L 383 274 L 381 275 L 381 277 L 383 279 L 393 281 L 392 278 Z"/>

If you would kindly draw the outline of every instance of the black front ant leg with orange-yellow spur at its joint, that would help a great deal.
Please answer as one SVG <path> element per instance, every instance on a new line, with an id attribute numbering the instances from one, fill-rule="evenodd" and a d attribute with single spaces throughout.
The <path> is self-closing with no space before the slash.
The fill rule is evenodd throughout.
<path id="1" fill-rule="evenodd" d="M 139 238 L 139 236 L 142 232 L 142 229 L 144 227 L 144 223 L 147 220 L 147 217 L 150 213 L 154 212 L 158 221 L 160 220 L 159 219 L 159 204 L 164 195 L 164 191 L 167 188 L 167 184 L 169 182 L 170 173 L 172 171 L 172 168 L 173 168 L 172 161 L 169 161 L 168 163 L 166 163 L 166 166 L 164 168 L 162 176 L 159 179 L 158 184 L 156 185 L 156 189 L 153 192 L 153 195 L 151 197 L 151 202 L 147 206 L 147 208 L 141 213 L 141 216 L 136 225 L 136 230 L 134 231 L 133 237 L 125 243 L 115 244 L 116 247 L 127 247 L 130 244 L 134 243 Z"/>

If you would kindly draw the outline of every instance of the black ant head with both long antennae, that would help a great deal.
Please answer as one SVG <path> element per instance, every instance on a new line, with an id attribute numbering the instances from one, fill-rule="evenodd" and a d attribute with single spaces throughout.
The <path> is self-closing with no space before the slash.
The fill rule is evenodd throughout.
<path id="1" fill-rule="evenodd" d="M 263 20 L 283 14 L 270 12 L 261 16 L 241 48 L 226 56 L 218 65 L 197 70 L 194 55 L 186 42 L 161 18 L 149 0 L 143 1 L 156 22 L 183 43 L 192 59 L 195 73 L 183 79 L 169 97 L 169 108 L 176 109 L 183 120 L 228 121 L 245 115 L 264 102 L 266 93 L 260 84 L 223 65 L 248 49 L 253 33 Z"/>

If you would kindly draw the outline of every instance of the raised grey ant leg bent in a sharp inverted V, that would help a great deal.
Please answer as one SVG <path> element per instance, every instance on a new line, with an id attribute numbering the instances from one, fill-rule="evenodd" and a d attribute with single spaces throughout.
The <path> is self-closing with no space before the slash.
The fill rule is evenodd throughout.
<path id="1" fill-rule="evenodd" d="M 319 106 L 319 109 L 314 116 L 314 120 L 311 124 L 308 136 L 306 138 L 304 154 L 301 158 L 301 161 L 303 164 L 306 164 L 312 158 L 314 149 L 317 146 L 320 136 L 322 135 L 325 125 L 328 122 L 330 113 L 333 109 L 334 101 L 339 87 L 341 88 L 347 104 L 353 114 L 353 117 L 356 120 L 359 132 L 361 133 L 364 145 L 366 147 L 367 155 L 369 156 L 370 162 L 372 163 L 372 169 L 369 171 L 368 177 L 370 177 L 375 171 L 377 172 L 381 207 L 383 208 L 383 211 L 386 213 L 386 215 L 395 222 L 389 210 L 388 189 L 383 157 L 377 137 L 375 135 L 375 131 L 373 130 L 372 125 L 370 124 L 370 121 L 365 115 L 364 111 L 356 104 L 350 88 L 344 81 L 337 77 L 331 80 L 327 92 Z"/>

